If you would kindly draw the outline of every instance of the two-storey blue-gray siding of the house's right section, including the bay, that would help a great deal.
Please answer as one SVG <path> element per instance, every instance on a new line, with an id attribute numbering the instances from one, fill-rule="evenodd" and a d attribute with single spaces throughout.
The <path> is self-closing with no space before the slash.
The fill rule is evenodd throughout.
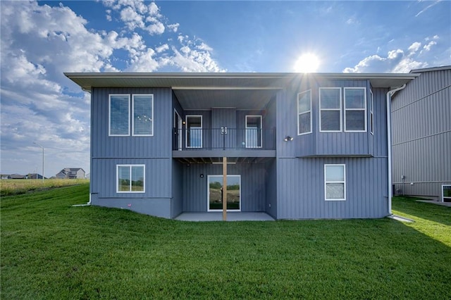
<path id="1" fill-rule="evenodd" d="M 302 136 L 297 135 L 296 103 L 297 92 L 302 91 L 287 90 L 277 94 L 277 218 L 381 218 L 388 215 L 386 89 L 372 89 L 375 129 L 371 135 L 369 109 L 367 132 L 319 132 L 319 87 L 366 87 L 367 101 L 371 88 L 368 80 L 334 80 L 308 85 L 312 92 L 313 125 L 312 133 Z M 293 141 L 284 142 L 286 135 L 294 137 Z M 299 158 L 302 156 L 312 157 Z M 324 200 L 326 163 L 346 165 L 346 201 Z"/>

